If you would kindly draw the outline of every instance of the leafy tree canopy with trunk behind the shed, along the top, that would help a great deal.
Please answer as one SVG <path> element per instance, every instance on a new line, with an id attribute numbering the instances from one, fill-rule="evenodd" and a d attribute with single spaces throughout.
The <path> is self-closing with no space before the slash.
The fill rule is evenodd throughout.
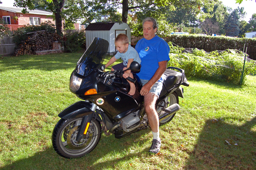
<path id="1" fill-rule="evenodd" d="M 202 6 L 213 9 L 217 0 L 68 0 L 69 8 L 65 14 L 70 20 L 77 20 L 86 17 L 97 17 L 99 15 L 116 15 L 117 9 L 122 9 L 122 21 L 128 22 L 128 13 L 136 15 L 139 20 L 146 16 L 166 14 L 169 9 L 183 7 L 187 11 L 193 11 L 201 19 L 205 14 L 201 11 Z M 67 13 L 66 13 L 67 12 Z M 73 14 L 73 15 L 71 15 Z M 208 14 L 207 14 L 208 15 Z M 209 15 L 208 15 L 209 16 Z"/>

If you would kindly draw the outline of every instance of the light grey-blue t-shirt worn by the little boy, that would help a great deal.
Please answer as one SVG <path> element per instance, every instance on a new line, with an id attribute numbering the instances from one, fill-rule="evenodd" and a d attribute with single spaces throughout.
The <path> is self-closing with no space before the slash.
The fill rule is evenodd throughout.
<path id="1" fill-rule="evenodd" d="M 139 64 L 141 63 L 140 56 L 136 49 L 131 47 L 131 45 L 128 46 L 128 50 L 125 53 L 120 53 L 119 51 L 115 55 L 116 59 L 121 58 L 123 60 L 123 64 L 127 65 L 128 59 L 133 59 L 133 61 L 137 61 Z"/>

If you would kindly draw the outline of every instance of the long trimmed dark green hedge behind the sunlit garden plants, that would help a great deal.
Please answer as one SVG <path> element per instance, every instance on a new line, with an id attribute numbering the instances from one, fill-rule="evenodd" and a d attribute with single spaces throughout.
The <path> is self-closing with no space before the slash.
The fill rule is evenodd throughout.
<path id="1" fill-rule="evenodd" d="M 256 60 L 256 38 L 173 34 L 164 39 L 167 43 L 172 42 L 184 48 L 198 48 L 207 52 L 226 49 L 237 49 L 243 51 L 244 44 L 246 44 L 245 47 L 247 46 L 248 58 Z"/>

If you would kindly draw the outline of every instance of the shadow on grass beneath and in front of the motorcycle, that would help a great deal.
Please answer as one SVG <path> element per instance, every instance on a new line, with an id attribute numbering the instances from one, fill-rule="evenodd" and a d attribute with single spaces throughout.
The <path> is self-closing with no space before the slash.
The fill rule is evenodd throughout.
<path id="1" fill-rule="evenodd" d="M 107 161 L 100 161 L 106 159 L 107 154 L 111 152 L 121 152 L 128 150 L 129 146 L 133 143 L 143 144 L 146 139 L 142 139 L 141 135 L 148 133 L 149 129 L 142 130 L 141 132 L 131 134 L 122 139 L 114 138 L 114 135 L 109 137 L 102 135 L 99 144 L 96 148 L 82 158 L 66 159 L 59 156 L 54 149 L 47 148 L 45 151 L 37 152 L 33 156 L 20 159 L 13 162 L 1 170 L 39 170 L 39 169 L 61 169 L 61 170 L 84 170 L 84 169 L 102 169 L 106 167 L 115 167 L 118 161 L 130 160 L 139 154 L 147 153 L 149 148 L 145 148 L 142 152 L 133 152 L 123 157 L 109 158 Z M 147 140 L 146 140 L 147 141 Z M 114 154 L 113 154 L 114 155 Z M 108 158 L 107 158 L 108 159 Z M 98 162 L 98 163 L 96 163 Z"/>

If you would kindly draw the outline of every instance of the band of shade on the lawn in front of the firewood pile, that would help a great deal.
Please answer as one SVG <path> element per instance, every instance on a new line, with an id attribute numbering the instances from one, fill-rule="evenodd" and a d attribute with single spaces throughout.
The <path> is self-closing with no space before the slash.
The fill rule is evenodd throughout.
<path id="1" fill-rule="evenodd" d="M 0 72 L 10 69 L 41 69 L 53 71 L 57 69 L 75 68 L 83 53 L 61 53 L 50 55 L 27 55 L 20 57 L 3 57 Z"/>

